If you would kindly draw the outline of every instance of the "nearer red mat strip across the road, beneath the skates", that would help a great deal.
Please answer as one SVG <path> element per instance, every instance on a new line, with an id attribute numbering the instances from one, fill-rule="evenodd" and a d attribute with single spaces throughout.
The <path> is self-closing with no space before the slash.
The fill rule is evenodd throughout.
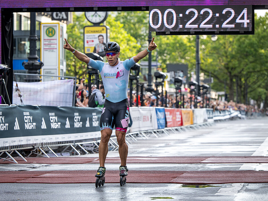
<path id="1" fill-rule="evenodd" d="M 0 171 L 1 183 L 95 183 L 96 171 Z M 106 171 L 106 183 L 118 183 L 119 171 Z M 129 171 L 129 183 L 261 183 L 268 171 Z"/>

